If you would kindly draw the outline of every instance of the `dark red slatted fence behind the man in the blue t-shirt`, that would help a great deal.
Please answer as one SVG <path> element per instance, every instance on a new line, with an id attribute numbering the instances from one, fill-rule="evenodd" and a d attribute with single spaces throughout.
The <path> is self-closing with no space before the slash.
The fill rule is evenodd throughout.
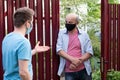
<path id="1" fill-rule="evenodd" d="M 35 11 L 33 31 L 29 39 L 32 48 L 37 41 L 49 45 L 51 50 L 33 56 L 34 80 L 59 80 L 58 56 L 55 44 L 59 30 L 59 0 L 0 0 L 0 80 L 3 80 L 1 44 L 6 33 L 13 30 L 12 15 L 15 9 L 28 6 Z"/>

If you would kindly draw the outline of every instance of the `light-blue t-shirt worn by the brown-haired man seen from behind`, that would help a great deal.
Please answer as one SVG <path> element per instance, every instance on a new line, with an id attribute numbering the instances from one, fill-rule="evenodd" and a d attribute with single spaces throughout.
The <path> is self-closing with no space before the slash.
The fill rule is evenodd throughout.
<path id="1" fill-rule="evenodd" d="M 19 60 L 29 61 L 29 72 L 31 77 L 32 64 L 31 45 L 20 33 L 9 33 L 2 42 L 2 61 L 4 69 L 4 80 L 21 80 L 19 75 Z"/>

